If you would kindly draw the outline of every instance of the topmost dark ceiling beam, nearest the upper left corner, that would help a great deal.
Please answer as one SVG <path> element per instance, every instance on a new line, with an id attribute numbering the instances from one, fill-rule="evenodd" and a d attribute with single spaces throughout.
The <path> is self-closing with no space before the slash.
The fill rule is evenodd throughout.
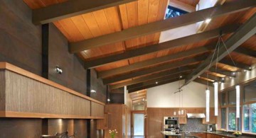
<path id="1" fill-rule="evenodd" d="M 69 18 L 72 16 L 78 16 L 84 13 L 90 13 L 103 8 L 109 8 L 112 6 L 118 6 L 120 4 L 126 4 L 137 0 L 73 0 L 65 1 L 60 4 L 54 4 L 43 8 L 38 8 L 32 12 L 33 23 L 45 24 L 53 21 L 58 21 L 63 18 Z"/>

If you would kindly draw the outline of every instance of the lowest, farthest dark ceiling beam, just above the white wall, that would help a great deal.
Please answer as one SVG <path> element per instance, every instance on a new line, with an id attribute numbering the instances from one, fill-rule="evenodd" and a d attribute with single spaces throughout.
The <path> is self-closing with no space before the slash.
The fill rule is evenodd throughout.
<path id="1" fill-rule="evenodd" d="M 188 72 L 186 72 L 186 73 L 188 73 Z M 185 76 L 184 73 L 181 74 L 181 75 Z M 173 74 L 173 75 L 170 75 L 170 76 L 164 76 L 164 77 L 161 77 L 161 78 L 151 79 L 149 81 L 144 81 L 144 82 L 139 83 L 139 84 L 132 84 L 130 86 L 127 86 L 127 89 L 129 91 L 130 89 L 134 89 L 134 88 L 149 86 L 151 84 L 158 84 L 159 82 L 162 82 L 162 81 L 168 81 L 168 80 L 171 80 L 171 79 L 178 79 L 179 76 L 180 76 L 180 74 Z"/>

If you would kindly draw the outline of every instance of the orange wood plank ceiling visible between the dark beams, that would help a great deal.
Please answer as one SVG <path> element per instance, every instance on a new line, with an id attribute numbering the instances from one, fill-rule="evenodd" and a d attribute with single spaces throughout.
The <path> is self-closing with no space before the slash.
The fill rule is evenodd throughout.
<path id="1" fill-rule="evenodd" d="M 41 8 L 44 6 L 49 6 L 51 4 L 60 4 L 61 2 L 65 2 L 66 0 L 23 0 L 26 4 L 28 4 L 29 7 L 32 9 Z M 175 0 L 177 1 L 177 0 Z M 171 2 L 175 2 L 174 0 L 171 0 Z M 198 4 L 199 0 L 179 0 L 178 3 L 182 3 L 188 6 L 193 6 L 196 8 L 196 4 Z M 139 0 L 130 2 L 127 4 L 122 4 L 119 6 L 114 6 L 111 8 L 105 8 L 99 11 L 94 11 L 91 13 L 85 13 L 79 16 L 73 16 L 71 18 L 65 18 L 60 21 L 53 22 L 55 26 L 65 35 L 65 37 L 68 39 L 69 42 L 79 42 L 81 40 L 87 40 L 90 38 L 96 38 L 101 35 L 107 35 L 114 32 L 119 32 L 122 30 L 125 30 L 127 28 L 132 28 L 138 25 L 144 25 L 146 23 L 152 23 L 156 21 L 162 21 L 164 20 L 166 7 L 169 4 L 168 0 Z M 208 30 L 213 30 L 215 28 L 220 28 L 225 25 L 233 25 L 236 23 L 245 23 L 248 18 L 250 18 L 252 15 L 256 13 L 256 8 L 250 8 L 245 11 L 239 11 L 237 13 L 231 13 L 225 16 L 220 16 L 218 18 L 214 18 L 207 28 L 204 30 L 205 32 Z M 224 35 L 224 39 L 230 37 L 232 33 Z M 87 61 L 91 61 L 93 59 L 100 59 L 104 57 L 108 57 L 110 55 L 120 54 L 127 52 L 129 50 L 136 50 L 139 47 L 146 47 L 149 45 L 157 44 L 159 43 L 159 33 L 153 33 L 149 35 L 144 35 L 139 38 L 134 38 L 131 40 L 125 40 L 122 42 L 116 42 L 111 45 L 104 45 L 101 47 L 93 48 L 90 50 L 85 50 L 78 55 Z M 100 67 L 96 67 L 97 72 L 102 71 L 110 71 L 111 69 L 117 69 L 119 67 L 128 67 L 131 64 L 135 64 L 137 62 L 143 62 L 149 59 L 155 59 L 157 57 L 164 57 L 166 55 L 176 54 L 178 52 L 185 52 L 188 50 L 195 49 L 196 47 L 203 47 L 205 45 L 215 45 L 217 42 L 217 38 L 210 38 L 208 40 L 201 40 L 199 42 L 194 42 L 189 45 L 183 45 L 180 47 L 174 47 L 170 50 L 161 50 L 159 52 L 154 52 L 152 54 L 146 54 L 139 57 L 132 57 L 130 59 L 124 59 L 121 61 L 113 62 L 110 64 L 105 64 Z M 245 43 L 243 43 L 240 47 L 246 48 L 246 50 L 252 50 L 256 51 L 256 44 L 255 44 L 256 36 L 252 36 L 249 40 L 247 40 Z M 208 51 L 210 52 L 210 51 Z M 168 62 L 164 63 L 158 63 L 158 64 L 152 64 L 151 66 L 143 67 L 141 69 L 136 69 L 133 71 L 128 71 L 123 74 L 117 74 L 114 76 L 107 76 L 102 78 L 104 82 L 106 82 L 109 79 L 117 78 L 119 76 L 127 76 L 129 74 L 134 74 L 138 71 L 145 71 L 146 69 L 153 69 L 156 67 L 161 67 L 164 64 L 172 64 L 181 62 L 184 59 L 190 59 L 194 57 L 198 57 L 203 54 L 208 54 L 208 52 L 198 52 L 197 54 L 189 55 L 188 57 L 180 57 L 177 59 L 171 59 Z M 247 53 L 239 52 L 238 50 L 231 53 L 231 56 L 233 59 L 235 59 L 235 62 L 238 62 L 242 64 L 242 66 L 246 65 L 250 66 L 252 64 L 256 63 L 255 54 L 248 56 Z M 230 60 L 230 57 L 225 57 L 225 59 Z M 198 60 L 198 62 L 189 62 L 188 65 L 195 65 L 200 63 L 201 61 Z M 186 64 L 185 64 L 186 65 Z M 180 66 L 183 67 L 183 66 Z M 218 68 L 223 69 L 225 72 L 229 71 L 238 71 L 242 69 L 233 67 L 230 64 L 223 64 L 218 63 Z M 168 69 L 165 69 L 168 70 Z M 124 82 L 129 82 L 134 79 L 139 79 L 145 76 L 151 76 L 154 74 L 159 74 L 159 71 L 154 71 L 152 73 L 140 75 L 140 76 L 133 76 L 129 79 L 122 79 L 119 81 L 114 81 L 111 83 L 105 83 L 109 84 L 110 88 L 112 86 L 117 86 L 117 84 L 122 84 Z M 213 76 L 228 76 L 228 74 L 220 74 L 214 73 L 213 71 L 210 72 Z M 155 75 L 156 76 L 156 75 Z M 201 77 L 201 79 L 204 79 Z M 163 81 L 163 80 L 162 80 Z M 171 80 L 175 81 L 175 80 Z M 213 81 L 213 80 L 211 80 Z M 168 83 L 169 81 L 163 81 Z M 159 83 L 161 84 L 161 83 Z M 152 84 L 153 85 L 153 84 Z M 113 87 L 112 87 L 113 88 Z M 146 87 L 139 87 L 134 88 L 133 90 L 140 90 Z"/>

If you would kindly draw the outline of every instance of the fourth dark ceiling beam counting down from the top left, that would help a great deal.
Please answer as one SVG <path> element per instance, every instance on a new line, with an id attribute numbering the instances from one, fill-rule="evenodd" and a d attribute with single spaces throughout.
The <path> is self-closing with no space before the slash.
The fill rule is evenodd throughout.
<path id="1" fill-rule="evenodd" d="M 100 71 L 97 73 L 97 76 L 99 78 L 105 78 L 107 76 L 114 76 L 117 74 L 122 74 L 124 72 L 127 71 L 132 71 L 132 70 L 136 70 L 136 69 L 140 69 L 140 68 L 144 68 L 144 67 L 149 67 L 153 64 L 159 64 L 161 62 L 168 62 L 171 61 L 172 59 L 178 59 L 178 58 L 183 58 L 183 57 L 190 57 L 193 56 L 195 54 L 201 54 L 204 52 L 209 52 L 211 48 L 209 46 L 204 46 L 204 47 L 197 47 L 197 48 L 193 48 L 191 50 L 186 50 L 183 52 L 178 52 L 175 54 L 169 54 L 163 57 L 156 57 L 154 59 L 148 59 L 145 60 L 143 62 L 137 62 L 134 64 L 129 64 L 128 66 L 124 66 L 124 67 L 118 67 L 115 69 L 110 69 L 107 71 Z"/>

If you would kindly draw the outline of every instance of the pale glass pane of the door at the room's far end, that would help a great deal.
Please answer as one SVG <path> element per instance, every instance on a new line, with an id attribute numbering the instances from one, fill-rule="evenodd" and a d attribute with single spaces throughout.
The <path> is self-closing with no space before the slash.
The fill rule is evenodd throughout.
<path id="1" fill-rule="evenodd" d="M 144 114 L 134 114 L 134 136 L 144 136 Z"/>

